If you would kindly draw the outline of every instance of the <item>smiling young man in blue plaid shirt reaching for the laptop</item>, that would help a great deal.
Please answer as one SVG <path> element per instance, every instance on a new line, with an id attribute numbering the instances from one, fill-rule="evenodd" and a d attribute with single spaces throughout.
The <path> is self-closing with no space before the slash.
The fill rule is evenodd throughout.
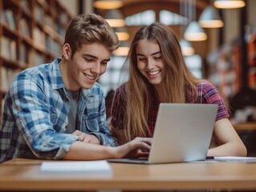
<path id="1" fill-rule="evenodd" d="M 0 129 L 0 162 L 120 158 L 149 149 L 148 138 L 117 146 L 108 130 L 104 94 L 96 80 L 119 43 L 99 15 L 74 18 L 63 57 L 23 70 L 10 83 Z"/>

